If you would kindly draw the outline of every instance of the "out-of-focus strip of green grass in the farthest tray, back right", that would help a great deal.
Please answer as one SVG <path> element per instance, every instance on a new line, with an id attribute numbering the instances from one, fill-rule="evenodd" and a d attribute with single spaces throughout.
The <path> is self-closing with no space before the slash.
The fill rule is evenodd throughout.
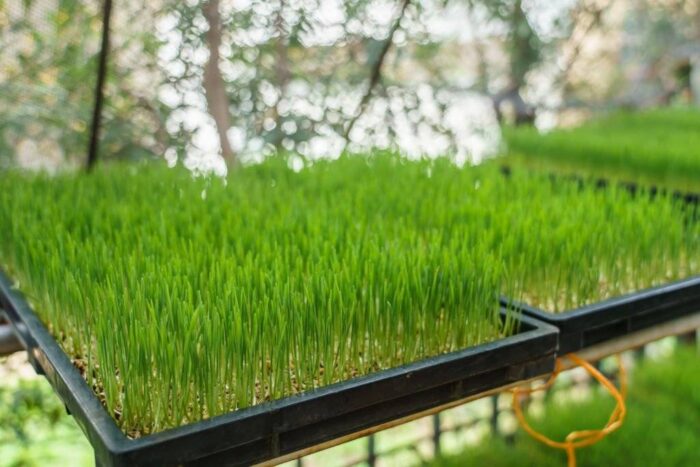
<path id="1" fill-rule="evenodd" d="M 615 112 L 540 134 L 504 128 L 505 159 L 516 166 L 700 192 L 700 111 Z"/>

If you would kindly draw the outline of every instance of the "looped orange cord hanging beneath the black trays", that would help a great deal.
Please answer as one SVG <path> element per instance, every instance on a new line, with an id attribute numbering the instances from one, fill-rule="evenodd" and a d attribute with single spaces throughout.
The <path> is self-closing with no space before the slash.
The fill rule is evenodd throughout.
<path id="1" fill-rule="evenodd" d="M 525 415 L 523 415 L 522 406 L 520 404 L 521 396 L 525 394 L 531 394 L 537 391 L 543 391 L 545 389 L 550 388 L 554 384 L 554 381 L 557 379 L 557 376 L 559 376 L 559 373 L 561 373 L 564 370 L 560 358 L 556 361 L 554 372 L 543 385 L 536 388 L 515 388 L 512 390 L 513 411 L 515 412 L 515 417 L 518 419 L 520 425 L 530 436 L 540 441 L 541 443 L 546 444 L 549 447 L 565 450 L 568 458 L 567 465 L 569 467 L 576 467 L 576 449 L 597 443 L 613 431 L 620 428 L 620 426 L 622 425 L 622 422 L 624 421 L 625 415 L 627 413 L 627 408 L 625 407 L 625 397 L 627 396 L 627 373 L 625 372 L 625 368 L 622 365 L 622 359 L 618 355 L 617 361 L 620 371 L 620 390 L 618 390 L 593 365 L 586 362 L 585 360 L 582 360 L 575 354 L 568 354 L 564 358 L 567 358 L 576 365 L 584 368 L 596 381 L 598 381 L 605 389 L 607 389 L 610 392 L 613 398 L 615 398 L 617 404 L 612 414 L 610 414 L 610 418 L 608 419 L 608 423 L 605 424 L 605 427 L 603 427 L 600 430 L 572 431 L 566 437 L 566 440 L 564 442 L 560 442 L 554 441 L 546 437 L 542 433 L 538 433 L 530 426 L 527 420 L 525 420 Z"/>

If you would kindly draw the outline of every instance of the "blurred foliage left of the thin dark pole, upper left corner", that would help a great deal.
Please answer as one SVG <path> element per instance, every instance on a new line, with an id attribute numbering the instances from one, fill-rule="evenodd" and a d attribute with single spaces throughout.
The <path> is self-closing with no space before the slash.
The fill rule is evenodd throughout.
<path id="1" fill-rule="evenodd" d="M 51 170 L 85 157 L 101 8 L 0 0 L 0 164 Z"/>

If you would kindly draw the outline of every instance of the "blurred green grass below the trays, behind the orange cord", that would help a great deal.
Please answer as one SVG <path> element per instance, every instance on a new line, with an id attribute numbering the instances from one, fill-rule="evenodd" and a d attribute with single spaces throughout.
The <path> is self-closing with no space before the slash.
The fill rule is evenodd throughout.
<path id="1" fill-rule="evenodd" d="M 578 465 L 700 465 L 700 358 L 695 349 L 678 350 L 634 369 L 624 425 L 599 443 L 576 451 Z M 529 416 L 533 427 L 562 440 L 575 429 L 602 427 L 614 407 L 612 398 L 595 391 L 584 401 L 556 399 L 541 417 Z M 461 454 L 436 459 L 440 467 L 463 465 L 561 466 L 566 454 L 551 449 L 519 430 L 514 445 L 487 437 Z"/>

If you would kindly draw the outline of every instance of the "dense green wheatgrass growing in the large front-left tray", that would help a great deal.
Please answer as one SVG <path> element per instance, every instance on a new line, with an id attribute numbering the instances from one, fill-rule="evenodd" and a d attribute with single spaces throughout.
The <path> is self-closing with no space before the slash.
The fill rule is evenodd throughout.
<path id="1" fill-rule="evenodd" d="M 3 174 L 2 263 L 132 435 L 510 334 L 502 262 L 395 162 Z"/>

